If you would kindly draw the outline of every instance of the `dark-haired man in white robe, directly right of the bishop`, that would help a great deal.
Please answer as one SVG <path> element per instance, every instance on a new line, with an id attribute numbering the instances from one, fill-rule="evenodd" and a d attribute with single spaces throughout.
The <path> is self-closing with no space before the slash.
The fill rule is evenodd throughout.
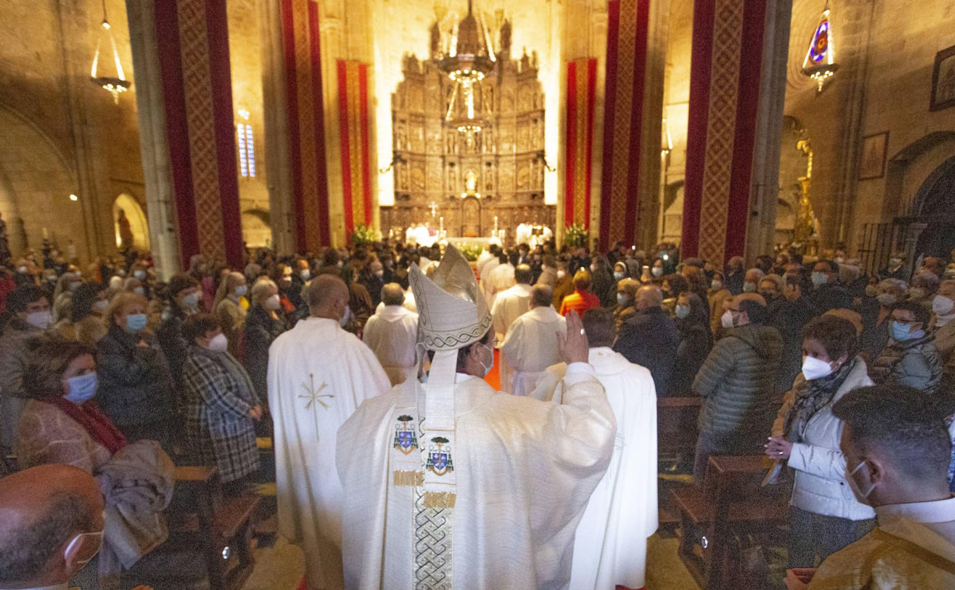
<path id="1" fill-rule="evenodd" d="M 590 364 L 604 385 L 617 420 L 613 458 L 577 527 L 571 590 L 643 588 L 647 537 L 658 525 L 656 390 L 650 371 L 610 347 L 616 335 L 613 312 L 584 312 Z M 535 391 L 539 399 L 567 403 L 566 367 L 547 369 Z"/>

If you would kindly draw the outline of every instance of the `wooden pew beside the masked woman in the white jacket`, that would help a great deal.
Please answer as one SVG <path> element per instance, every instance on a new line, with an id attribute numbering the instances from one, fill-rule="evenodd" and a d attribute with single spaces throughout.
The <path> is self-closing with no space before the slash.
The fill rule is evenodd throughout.
<path id="1" fill-rule="evenodd" d="M 701 588 L 761 587 L 761 580 L 732 575 L 741 558 L 741 547 L 733 539 L 785 542 L 790 489 L 760 488 L 766 467 L 762 455 L 711 456 L 702 489 L 670 490 L 680 513 L 678 554 Z"/>

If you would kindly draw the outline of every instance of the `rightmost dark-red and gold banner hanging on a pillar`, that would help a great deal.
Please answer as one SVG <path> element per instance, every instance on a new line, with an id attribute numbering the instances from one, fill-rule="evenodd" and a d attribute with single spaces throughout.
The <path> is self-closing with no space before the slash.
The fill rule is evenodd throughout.
<path id="1" fill-rule="evenodd" d="M 766 31 L 778 16 L 768 4 L 778 3 L 694 0 L 684 257 L 719 265 L 745 253 L 760 108 L 767 125 L 772 114 L 760 103 L 764 45 L 774 43 Z"/>

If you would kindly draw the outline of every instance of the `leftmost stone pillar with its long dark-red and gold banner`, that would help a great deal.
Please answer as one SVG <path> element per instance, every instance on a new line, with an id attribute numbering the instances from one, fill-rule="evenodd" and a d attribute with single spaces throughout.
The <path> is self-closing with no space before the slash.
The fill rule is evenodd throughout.
<path id="1" fill-rule="evenodd" d="M 244 252 L 225 1 L 129 4 L 146 199 L 160 205 L 158 214 L 150 212 L 152 231 L 169 227 L 157 219 L 168 199 L 180 268 L 194 254 L 239 267 Z M 173 270 L 171 260 L 163 262 L 163 274 Z"/>

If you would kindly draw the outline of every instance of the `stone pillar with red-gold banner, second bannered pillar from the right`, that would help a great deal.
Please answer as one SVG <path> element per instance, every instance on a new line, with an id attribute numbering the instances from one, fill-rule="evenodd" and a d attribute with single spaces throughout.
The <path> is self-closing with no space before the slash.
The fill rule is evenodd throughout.
<path id="1" fill-rule="evenodd" d="M 599 233 L 605 249 L 656 239 L 668 19 L 669 0 L 607 6 Z"/>

